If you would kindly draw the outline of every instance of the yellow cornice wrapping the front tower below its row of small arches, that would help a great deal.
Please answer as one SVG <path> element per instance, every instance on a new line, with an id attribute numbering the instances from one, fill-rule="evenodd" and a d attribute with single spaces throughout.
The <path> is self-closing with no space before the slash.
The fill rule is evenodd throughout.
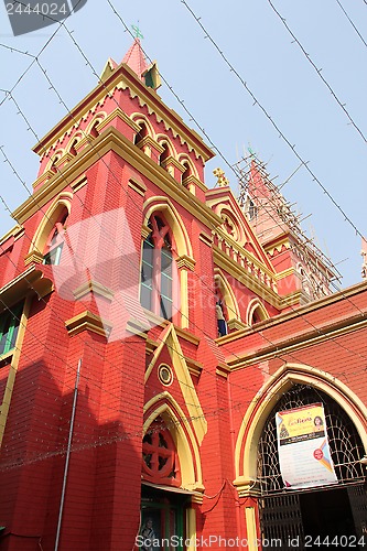
<path id="1" fill-rule="evenodd" d="M 54 174 L 48 182 L 43 184 L 31 197 L 20 205 L 13 212 L 12 216 L 19 224 L 23 224 L 30 216 L 42 208 L 57 193 L 71 185 L 74 180 L 86 172 L 91 164 L 100 160 L 109 151 L 114 151 L 144 174 L 163 193 L 186 208 L 205 226 L 212 229 L 213 226 L 216 227 L 222 224 L 222 219 L 211 208 L 198 201 L 192 193 L 170 176 L 162 166 L 159 166 L 112 127 L 107 128 L 91 144 L 87 145 L 80 153 L 73 158 L 73 161 L 64 165 L 60 173 Z"/>

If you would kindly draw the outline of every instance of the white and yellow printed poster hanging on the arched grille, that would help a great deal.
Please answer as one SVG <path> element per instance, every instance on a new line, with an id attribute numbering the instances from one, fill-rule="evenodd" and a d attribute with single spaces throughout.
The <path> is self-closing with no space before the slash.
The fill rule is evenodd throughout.
<path id="1" fill-rule="evenodd" d="M 285 488 L 337 484 L 322 403 L 279 411 L 276 423 L 280 472 Z"/>

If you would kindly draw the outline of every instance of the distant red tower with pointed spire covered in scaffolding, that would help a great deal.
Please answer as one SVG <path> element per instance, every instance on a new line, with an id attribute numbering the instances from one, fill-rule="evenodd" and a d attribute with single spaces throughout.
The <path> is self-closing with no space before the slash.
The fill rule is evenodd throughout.
<path id="1" fill-rule="evenodd" d="M 277 272 L 285 272 L 279 291 L 299 290 L 300 304 L 331 294 L 338 276 L 331 260 L 309 239 L 300 217 L 270 180 L 255 154 L 239 163 L 240 203 Z"/>

